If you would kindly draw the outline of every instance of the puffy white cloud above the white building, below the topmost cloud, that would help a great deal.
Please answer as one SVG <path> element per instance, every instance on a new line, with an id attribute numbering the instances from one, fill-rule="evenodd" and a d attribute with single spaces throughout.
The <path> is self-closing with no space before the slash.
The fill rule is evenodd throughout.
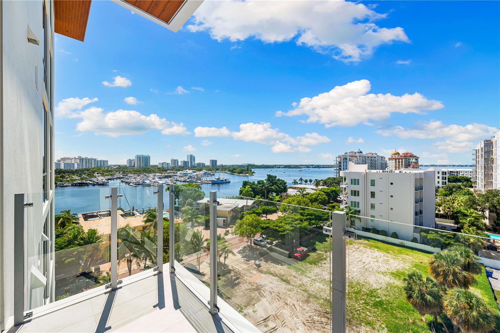
<path id="1" fill-rule="evenodd" d="M 325 127 L 354 126 L 368 120 L 382 120 L 393 112 L 422 113 L 422 110 L 436 110 L 444 105 L 438 100 L 425 98 L 422 94 L 405 93 L 395 96 L 390 93 L 368 93 L 370 81 L 366 79 L 337 85 L 328 92 L 314 97 L 303 97 L 293 109 L 276 111 L 276 116 L 306 115 L 306 122 L 319 122 Z"/>

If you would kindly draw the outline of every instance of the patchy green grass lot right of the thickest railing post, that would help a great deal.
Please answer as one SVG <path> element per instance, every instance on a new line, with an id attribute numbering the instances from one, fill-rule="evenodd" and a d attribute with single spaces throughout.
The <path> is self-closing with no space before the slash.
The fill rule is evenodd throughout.
<path id="1" fill-rule="evenodd" d="M 349 242 L 349 256 L 349 260 L 356 260 L 355 263 L 350 261 L 347 294 L 347 316 L 353 331 L 430 331 L 431 316 L 426 315 L 427 322 L 422 321 L 402 291 L 402 278 L 407 272 L 416 269 L 424 275 L 428 274 L 430 253 L 363 238 Z M 369 260 L 371 266 L 364 270 L 362 265 L 356 263 L 366 257 L 369 257 L 365 260 Z M 484 268 L 475 277 L 477 284 L 472 290 L 498 313 Z M 451 332 L 451 323 L 447 318 L 445 322 Z M 497 322 L 499 328 L 500 323 Z M 436 331 L 443 331 L 440 323 Z"/>

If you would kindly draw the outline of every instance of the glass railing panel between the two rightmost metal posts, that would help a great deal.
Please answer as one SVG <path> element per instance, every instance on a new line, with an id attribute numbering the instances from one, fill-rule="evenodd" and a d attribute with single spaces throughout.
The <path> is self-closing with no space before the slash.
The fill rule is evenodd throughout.
<path id="1" fill-rule="evenodd" d="M 261 331 L 329 331 L 330 211 L 217 195 L 218 296 Z"/>

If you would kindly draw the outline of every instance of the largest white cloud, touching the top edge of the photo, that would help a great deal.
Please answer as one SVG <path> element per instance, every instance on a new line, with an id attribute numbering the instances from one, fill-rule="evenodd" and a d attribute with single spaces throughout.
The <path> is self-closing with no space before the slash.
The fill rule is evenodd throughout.
<path id="1" fill-rule="evenodd" d="M 264 43 L 293 40 L 344 62 L 370 56 L 381 44 L 409 42 L 402 27 L 380 27 L 387 17 L 350 1 L 204 1 L 190 31 L 206 30 L 213 39 L 246 38 Z"/>

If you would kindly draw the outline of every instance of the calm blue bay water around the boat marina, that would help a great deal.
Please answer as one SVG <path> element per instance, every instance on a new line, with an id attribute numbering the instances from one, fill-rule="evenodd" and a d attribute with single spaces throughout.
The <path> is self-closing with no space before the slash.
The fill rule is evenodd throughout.
<path id="1" fill-rule="evenodd" d="M 254 169 L 255 174 L 251 176 L 240 176 L 235 174 L 220 173 L 221 177 L 230 178 L 231 182 L 223 184 L 202 184 L 201 188 L 206 191 L 216 190 L 220 196 L 226 194 L 237 195 L 243 180 L 257 181 L 265 179 L 267 174 L 276 175 L 286 180 L 291 185 L 293 179 L 302 177 L 304 179 L 323 179 L 333 176 L 333 168 L 316 169 Z M 118 192 L 123 196 L 118 199 L 118 206 L 125 209 L 142 209 L 156 206 L 156 195 L 153 191 L 156 186 L 123 186 L 119 181 L 110 181 L 106 186 L 67 186 L 55 188 L 55 212 L 63 209 L 71 209 L 72 212 L 80 213 L 110 208 L 110 200 L 104 198 L 110 193 L 110 187 L 119 186 Z M 163 203 L 168 207 L 168 196 L 163 195 Z"/>

